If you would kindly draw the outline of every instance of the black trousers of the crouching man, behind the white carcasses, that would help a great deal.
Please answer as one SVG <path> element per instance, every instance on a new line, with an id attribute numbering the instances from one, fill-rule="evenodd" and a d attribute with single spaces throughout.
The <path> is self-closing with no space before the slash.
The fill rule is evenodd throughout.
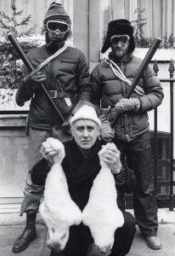
<path id="1" fill-rule="evenodd" d="M 116 230 L 115 241 L 112 247 L 111 256 L 126 255 L 133 243 L 136 220 L 129 212 L 123 212 L 125 223 Z M 102 235 L 103 236 L 103 235 Z M 93 243 L 93 237 L 87 226 L 71 226 L 70 237 L 62 252 L 56 253 L 52 250 L 50 256 L 87 256 L 88 247 Z"/>

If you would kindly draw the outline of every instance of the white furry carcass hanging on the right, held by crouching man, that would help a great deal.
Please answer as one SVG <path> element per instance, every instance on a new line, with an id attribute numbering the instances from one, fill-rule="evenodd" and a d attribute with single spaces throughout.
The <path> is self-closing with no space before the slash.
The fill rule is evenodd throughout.
<path id="1" fill-rule="evenodd" d="M 91 230 L 94 244 L 107 255 L 113 246 L 116 229 L 124 224 L 123 214 L 116 203 L 115 179 L 103 160 L 104 151 L 111 147 L 116 146 L 107 143 L 99 151 L 101 170 L 93 181 L 88 204 L 82 212 L 82 222 Z"/>

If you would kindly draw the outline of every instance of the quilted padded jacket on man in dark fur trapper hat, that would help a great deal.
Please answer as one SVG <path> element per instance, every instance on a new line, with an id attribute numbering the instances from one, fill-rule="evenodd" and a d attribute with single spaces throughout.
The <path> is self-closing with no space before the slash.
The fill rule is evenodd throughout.
<path id="1" fill-rule="evenodd" d="M 110 53 L 109 59 L 115 61 L 112 53 Z M 128 55 L 125 61 L 121 62 L 120 68 L 127 79 L 133 81 L 141 63 L 142 60 L 138 57 Z M 116 102 L 119 102 L 121 97 L 125 97 L 130 88 L 127 83 L 116 77 L 111 67 L 104 61 L 94 67 L 91 73 L 91 83 L 93 86 L 93 104 L 104 109 L 110 106 L 110 113 L 115 111 Z M 158 107 L 164 97 L 160 81 L 150 66 L 146 68 L 138 85 L 144 89 L 145 93 L 145 96 L 139 96 L 136 92 L 132 94 L 132 97 L 139 97 L 141 103 L 138 113 L 127 111 L 126 113 L 121 113 L 116 120 L 115 135 L 121 141 L 132 141 L 149 130 L 147 111 Z"/>

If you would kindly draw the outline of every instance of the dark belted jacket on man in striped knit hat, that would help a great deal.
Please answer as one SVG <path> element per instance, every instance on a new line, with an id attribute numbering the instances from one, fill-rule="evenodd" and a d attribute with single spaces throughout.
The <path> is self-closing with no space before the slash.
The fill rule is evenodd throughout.
<path id="1" fill-rule="evenodd" d="M 54 52 L 51 52 L 48 48 L 48 44 L 44 44 L 41 47 L 31 50 L 28 53 L 28 58 L 32 66 L 37 68 L 38 65 L 53 54 Z M 54 60 L 48 62 L 48 64 L 42 68 L 42 72 L 45 73 L 47 78 L 46 82 L 44 82 L 45 88 L 59 92 L 58 98 L 53 99 L 53 101 L 58 106 L 60 113 L 65 119 L 69 116 L 77 102 L 91 101 L 92 89 L 88 65 L 80 49 L 68 46 L 64 52 Z M 25 86 L 24 82 L 22 82 L 20 86 Z M 24 105 L 25 101 L 31 99 L 28 119 L 29 126 L 36 129 L 48 130 L 54 125 L 62 125 L 62 120 L 50 105 L 42 90 L 26 90 L 25 100 L 22 103 L 18 100 L 21 97 L 19 94 L 17 92 L 16 99 L 17 104 L 20 106 Z M 71 106 L 66 104 L 66 97 L 71 99 Z"/>

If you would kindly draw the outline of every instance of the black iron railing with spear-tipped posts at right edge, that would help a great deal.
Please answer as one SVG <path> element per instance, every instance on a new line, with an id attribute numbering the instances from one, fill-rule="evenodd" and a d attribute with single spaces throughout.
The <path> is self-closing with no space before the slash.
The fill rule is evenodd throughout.
<path id="1" fill-rule="evenodd" d="M 159 68 L 157 65 L 157 61 L 154 61 L 154 65 L 153 65 L 153 69 L 155 71 L 155 74 L 158 75 L 159 72 Z M 169 83 L 170 86 L 170 134 L 166 134 L 164 133 L 164 140 L 167 137 L 167 148 L 166 150 L 169 150 L 169 154 L 167 154 L 167 157 L 165 159 L 161 159 L 161 167 L 164 167 L 166 169 L 167 172 L 167 180 L 164 181 L 160 181 L 158 179 L 159 175 L 158 175 L 158 162 L 160 161 L 158 158 L 158 137 L 159 137 L 159 132 L 157 131 L 157 108 L 155 108 L 155 136 L 154 136 L 154 164 L 155 164 L 155 193 L 156 193 L 156 197 L 157 197 L 157 201 L 158 201 L 158 206 L 159 206 L 159 202 L 163 202 L 161 203 L 161 205 L 163 207 L 169 207 L 170 211 L 173 211 L 173 207 L 174 207 L 174 193 L 173 193 L 173 187 L 175 186 L 175 182 L 173 180 L 173 172 L 175 171 L 175 161 L 173 159 L 173 153 L 174 153 L 174 148 L 173 148 L 173 130 L 174 130 L 174 124 L 173 124 L 173 115 L 174 115 L 174 102 L 173 102 L 173 86 L 175 83 L 175 79 L 174 79 L 174 65 L 173 65 L 173 61 L 170 61 L 170 65 L 168 68 L 168 71 L 170 73 L 170 78 L 169 79 L 160 79 L 161 83 Z M 162 136 L 162 134 L 161 134 Z M 162 138 L 163 140 L 163 138 Z M 168 148 L 169 147 L 169 148 Z M 167 191 L 169 190 L 169 193 L 159 193 L 160 190 L 160 186 L 164 186 L 164 187 L 169 187 L 169 189 L 167 189 Z M 165 203 L 165 201 L 167 201 L 168 203 Z"/>

